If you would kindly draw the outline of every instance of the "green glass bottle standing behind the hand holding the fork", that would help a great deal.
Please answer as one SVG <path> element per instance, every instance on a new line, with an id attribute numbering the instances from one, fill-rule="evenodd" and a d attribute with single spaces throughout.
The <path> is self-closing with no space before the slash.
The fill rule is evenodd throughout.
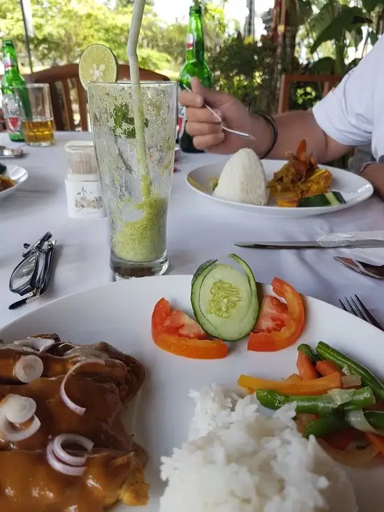
<path id="1" fill-rule="evenodd" d="M 202 30 L 202 10 L 198 2 L 189 8 L 189 27 L 186 36 L 186 63 L 180 73 L 179 85 L 191 87 L 191 78 L 197 76 L 202 85 L 212 87 L 212 75 L 205 62 L 204 33 Z M 179 145 L 186 153 L 201 153 L 193 145 L 192 137 L 185 131 L 185 108 L 179 105 Z"/>

